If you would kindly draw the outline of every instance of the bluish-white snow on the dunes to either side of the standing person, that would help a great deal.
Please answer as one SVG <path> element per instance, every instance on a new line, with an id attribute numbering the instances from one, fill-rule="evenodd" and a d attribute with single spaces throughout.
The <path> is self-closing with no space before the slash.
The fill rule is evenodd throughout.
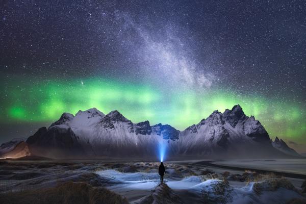
<path id="1" fill-rule="evenodd" d="M 110 183 L 116 183 L 109 189 L 121 195 L 129 196 L 130 201 L 141 203 L 143 199 L 148 199 L 147 195 L 156 190 L 160 184 L 158 173 L 135 172 L 122 173 L 117 170 L 97 171 L 101 178 L 109 180 Z M 176 195 L 186 196 L 184 192 L 190 195 L 190 202 L 202 200 L 204 202 L 215 203 L 281 203 L 292 198 L 304 198 L 297 192 L 285 188 L 279 188 L 275 191 L 263 191 L 258 195 L 253 190 L 253 182 L 244 187 L 232 187 L 226 181 L 207 180 L 203 181 L 200 176 L 188 176 L 177 181 L 177 178 L 170 174 L 165 176 L 165 184 Z M 112 182 L 111 182 L 112 181 Z M 183 195 L 181 195 L 183 193 Z M 152 194 L 154 196 L 155 194 Z M 191 196 L 192 195 L 192 196 Z M 134 198 L 134 199 L 131 199 Z M 268 201 L 268 202 L 267 202 Z"/>

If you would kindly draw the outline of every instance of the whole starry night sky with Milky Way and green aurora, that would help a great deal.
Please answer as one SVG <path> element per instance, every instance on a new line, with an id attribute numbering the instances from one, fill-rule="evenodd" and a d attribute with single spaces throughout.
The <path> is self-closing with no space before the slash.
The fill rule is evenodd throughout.
<path id="1" fill-rule="evenodd" d="M 240 104 L 306 150 L 305 1 L 0 1 L 0 143 L 63 112 L 176 129 Z"/>

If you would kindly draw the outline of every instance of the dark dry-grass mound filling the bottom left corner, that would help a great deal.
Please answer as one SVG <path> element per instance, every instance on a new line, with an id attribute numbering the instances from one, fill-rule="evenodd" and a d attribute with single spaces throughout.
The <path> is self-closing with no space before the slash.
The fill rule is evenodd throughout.
<path id="1" fill-rule="evenodd" d="M 125 198 L 107 190 L 96 188 L 85 183 L 68 182 L 55 188 L 10 192 L 0 196 L 0 203 L 14 204 L 98 204 L 128 203 Z"/>

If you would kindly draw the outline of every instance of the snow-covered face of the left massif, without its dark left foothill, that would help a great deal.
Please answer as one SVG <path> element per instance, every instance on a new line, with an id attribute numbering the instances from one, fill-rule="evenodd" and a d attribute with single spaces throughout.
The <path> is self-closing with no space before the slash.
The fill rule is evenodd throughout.
<path id="1" fill-rule="evenodd" d="M 48 128 L 70 129 L 86 154 L 95 156 L 139 156 L 158 154 L 156 146 L 164 139 L 177 139 L 179 131 L 170 125 L 150 126 L 148 121 L 133 123 L 118 111 L 105 115 L 97 109 L 64 113 Z"/>

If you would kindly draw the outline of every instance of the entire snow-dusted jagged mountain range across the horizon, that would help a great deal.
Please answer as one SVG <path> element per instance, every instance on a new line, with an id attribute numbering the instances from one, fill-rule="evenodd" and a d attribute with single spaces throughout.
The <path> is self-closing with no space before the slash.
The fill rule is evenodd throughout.
<path id="1" fill-rule="evenodd" d="M 118 111 L 107 115 L 92 108 L 63 113 L 48 128 L 27 139 L 0 146 L 2 158 L 35 155 L 47 158 L 290 158 L 301 157 L 277 137 L 273 142 L 263 125 L 239 105 L 214 111 L 184 131 L 167 124 L 133 123 Z"/>

